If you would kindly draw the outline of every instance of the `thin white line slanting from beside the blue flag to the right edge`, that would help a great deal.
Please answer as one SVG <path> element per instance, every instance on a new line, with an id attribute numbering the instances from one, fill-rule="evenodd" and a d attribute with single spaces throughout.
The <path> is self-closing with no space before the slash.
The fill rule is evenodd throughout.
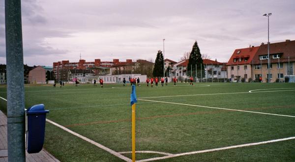
<path id="1" fill-rule="evenodd" d="M 270 114 L 270 113 L 261 113 L 261 112 L 251 112 L 251 111 L 245 111 L 245 110 L 217 108 L 217 107 L 209 107 L 209 106 L 201 106 L 201 105 L 191 105 L 191 104 L 176 103 L 176 102 L 154 101 L 154 100 L 147 100 L 147 99 L 138 99 L 138 100 L 142 100 L 142 101 L 150 101 L 150 102 L 170 103 L 170 104 L 186 105 L 186 106 L 195 106 L 195 107 L 203 107 L 203 108 L 211 108 L 211 109 L 231 110 L 231 111 L 247 112 L 247 113 L 256 113 L 256 114 L 266 114 L 266 115 L 272 115 L 272 116 L 286 116 L 286 115 L 279 115 L 279 114 Z M 295 116 L 287 116 L 287 117 L 295 117 Z"/>

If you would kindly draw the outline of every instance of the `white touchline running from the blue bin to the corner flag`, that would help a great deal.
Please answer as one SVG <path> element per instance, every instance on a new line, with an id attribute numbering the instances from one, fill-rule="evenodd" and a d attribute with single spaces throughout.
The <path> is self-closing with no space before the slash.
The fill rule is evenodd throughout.
<path id="1" fill-rule="evenodd" d="M 51 124 L 53 124 L 53 125 L 55 125 L 55 126 L 61 128 L 61 129 L 65 130 L 65 131 L 67 131 L 68 133 L 70 133 L 70 134 L 72 134 L 72 135 L 74 135 L 74 136 L 77 136 L 77 137 L 79 137 L 79 138 L 81 138 L 81 139 L 84 139 L 84 140 L 88 141 L 88 142 L 91 143 L 91 144 L 94 144 L 95 146 L 97 146 L 97 147 L 99 147 L 99 148 L 101 148 L 101 149 L 103 149 L 103 150 L 105 150 L 105 151 L 107 151 L 107 152 L 109 152 L 109 153 L 115 155 L 116 157 L 118 157 L 118 158 L 120 158 L 120 159 L 122 159 L 122 160 L 124 160 L 124 161 L 126 161 L 126 162 L 132 162 L 131 159 L 129 159 L 129 158 L 127 158 L 127 157 L 125 157 L 125 156 L 119 154 L 118 152 L 116 152 L 116 151 L 114 151 L 114 150 L 112 150 L 112 149 L 109 149 L 108 147 L 103 146 L 102 144 L 99 144 L 99 143 L 97 143 L 97 142 L 95 142 L 95 141 L 93 141 L 93 140 L 91 140 L 91 139 L 88 139 L 88 138 L 86 138 L 86 137 L 84 137 L 84 136 L 82 136 L 82 135 L 80 135 L 80 134 L 78 134 L 78 133 L 76 133 L 76 132 L 73 132 L 73 131 L 71 131 L 71 130 L 65 128 L 64 126 L 59 125 L 58 123 L 55 123 L 55 122 L 53 122 L 53 121 L 51 121 L 51 120 L 49 120 L 49 119 L 46 119 L 46 121 L 48 121 L 48 122 L 50 122 Z"/>

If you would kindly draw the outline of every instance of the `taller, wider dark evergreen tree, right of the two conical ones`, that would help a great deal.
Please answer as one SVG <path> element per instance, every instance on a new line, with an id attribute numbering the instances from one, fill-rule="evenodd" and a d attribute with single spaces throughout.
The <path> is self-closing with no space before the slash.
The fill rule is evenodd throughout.
<path id="1" fill-rule="evenodd" d="M 201 67 L 202 64 L 202 67 Z M 197 65 L 197 76 L 201 78 L 201 68 L 202 68 L 202 77 L 205 77 L 204 64 L 202 59 L 202 54 L 198 46 L 197 41 L 194 43 L 193 49 L 189 55 L 188 64 L 187 64 L 187 74 L 188 76 L 192 73 L 193 77 L 196 77 L 196 65 Z"/>

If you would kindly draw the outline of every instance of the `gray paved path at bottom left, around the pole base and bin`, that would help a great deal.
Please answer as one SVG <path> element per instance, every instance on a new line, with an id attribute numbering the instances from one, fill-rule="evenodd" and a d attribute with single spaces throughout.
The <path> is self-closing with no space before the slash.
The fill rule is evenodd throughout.
<path id="1" fill-rule="evenodd" d="M 0 162 L 8 162 L 7 157 L 7 117 L 0 111 Z M 45 149 L 39 153 L 29 154 L 26 151 L 26 162 L 59 162 Z"/>

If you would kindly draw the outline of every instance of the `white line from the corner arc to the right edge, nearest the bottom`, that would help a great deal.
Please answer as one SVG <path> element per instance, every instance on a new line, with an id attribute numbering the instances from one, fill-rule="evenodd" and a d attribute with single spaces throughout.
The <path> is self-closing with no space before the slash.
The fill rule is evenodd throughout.
<path id="1" fill-rule="evenodd" d="M 289 137 L 289 138 L 285 138 L 285 139 L 267 140 L 267 141 L 263 141 L 263 142 L 240 144 L 240 145 L 234 145 L 234 146 L 228 146 L 228 147 L 220 147 L 220 148 L 214 148 L 214 149 L 209 149 L 209 150 L 186 152 L 186 153 L 181 153 L 181 154 L 168 155 L 168 156 L 164 156 L 164 157 L 140 160 L 140 161 L 137 161 L 137 162 L 149 162 L 149 161 L 174 158 L 174 157 L 179 157 L 179 156 L 184 156 L 184 155 L 200 154 L 200 153 L 206 153 L 206 152 L 212 152 L 212 151 L 227 150 L 227 149 L 232 149 L 232 148 L 254 146 L 254 145 L 259 145 L 259 144 L 266 144 L 266 143 L 278 142 L 278 141 L 283 141 L 283 140 L 291 140 L 291 139 L 295 139 L 295 137 Z"/>

